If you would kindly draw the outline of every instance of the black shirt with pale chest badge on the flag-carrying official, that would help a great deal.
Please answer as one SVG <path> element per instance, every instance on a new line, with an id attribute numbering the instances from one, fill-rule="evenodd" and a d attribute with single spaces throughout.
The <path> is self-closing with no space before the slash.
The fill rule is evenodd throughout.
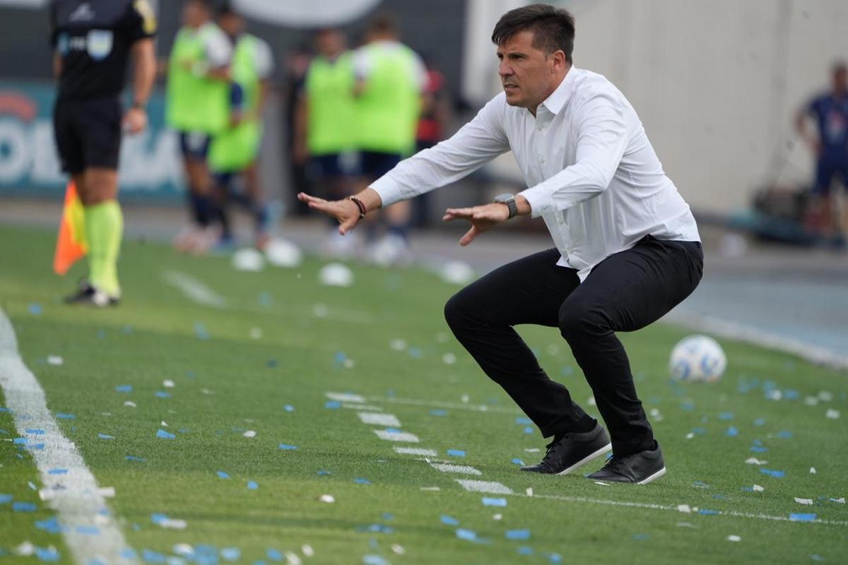
<path id="1" fill-rule="evenodd" d="M 147 0 L 52 0 L 50 41 L 62 58 L 59 99 L 118 96 L 132 44 L 155 32 Z"/>

